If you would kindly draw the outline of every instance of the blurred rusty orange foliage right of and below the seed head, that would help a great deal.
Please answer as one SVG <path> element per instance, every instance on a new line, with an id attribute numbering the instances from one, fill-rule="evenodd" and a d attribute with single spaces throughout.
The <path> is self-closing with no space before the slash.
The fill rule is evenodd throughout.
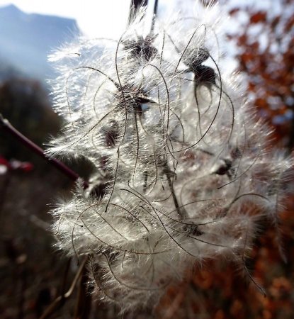
<path id="1" fill-rule="evenodd" d="M 273 145 L 290 153 L 294 147 L 294 3 L 277 2 L 281 13 L 236 5 L 231 16 L 238 18 L 242 12 L 248 19 L 239 33 L 228 38 L 237 44 L 239 70 L 248 79 L 248 98 L 257 114 L 275 129 Z M 289 198 L 281 214 L 281 238 L 273 225 L 262 223 L 251 259 L 246 261 L 266 297 L 235 264 L 205 262 L 186 281 L 169 289 L 157 307 L 159 318 L 294 318 L 293 199 Z M 278 241 L 287 262 L 282 260 Z"/>

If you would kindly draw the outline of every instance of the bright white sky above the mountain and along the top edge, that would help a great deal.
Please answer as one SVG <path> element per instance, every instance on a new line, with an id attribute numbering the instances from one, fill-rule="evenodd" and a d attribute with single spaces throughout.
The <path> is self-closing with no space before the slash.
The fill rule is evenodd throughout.
<path id="1" fill-rule="evenodd" d="M 159 6 L 174 11 L 196 0 L 159 0 Z M 154 0 L 149 0 L 152 8 Z M 227 2 L 227 1 L 226 1 Z M 0 0 L 0 6 L 15 4 L 26 13 L 41 13 L 63 16 L 77 20 L 79 28 L 91 37 L 105 36 L 118 38 L 126 26 L 130 0 Z M 220 4 L 223 1 L 220 0 Z M 232 5 L 254 5 L 260 9 L 280 11 L 279 1 L 275 0 L 229 0 Z"/>

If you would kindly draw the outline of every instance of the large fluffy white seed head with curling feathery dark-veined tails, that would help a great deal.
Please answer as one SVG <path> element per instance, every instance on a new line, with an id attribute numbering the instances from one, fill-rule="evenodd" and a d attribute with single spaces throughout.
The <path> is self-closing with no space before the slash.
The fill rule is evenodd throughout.
<path id="1" fill-rule="evenodd" d="M 268 152 L 236 74 L 222 72 L 220 11 L 155 21 L 51 57 L 63 133 L 50 155 L 94 164 L 88 190 L 53 211 L 59 245 L 89 254 L 98 298 L 150 306 L 205 259 L 244 264 L 260 218 L 278 225 L 288 159 Z"/>

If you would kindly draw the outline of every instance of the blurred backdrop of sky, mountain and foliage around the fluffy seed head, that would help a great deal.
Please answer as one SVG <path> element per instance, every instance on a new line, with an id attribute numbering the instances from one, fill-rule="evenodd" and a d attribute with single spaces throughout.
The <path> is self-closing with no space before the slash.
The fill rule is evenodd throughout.
<path id="1" fill-rule="evenodd" d="M 158 14 L 189 12 L 193 0 L 159 0 Z M 205 1 L 203 0 L 205 3 Z M 206 1 L 208 2 L 208 1 Z M 230 67 L 244 74 L 247 99 L 274 129 L 272 146 L 290 154 L 294 147 L 294 2 L 220 0 L 227 23 Z M 154 0 L 148 1 L 153 9 Z M 55 74 L 47 55 L 79 34 L 118 38 L 128 21 L 130 0 L 0 0 L 0 113 L 21 133 L 44 147 L 62 120 L 52 111 Z M 114 22 L 115 21 L 115 24 Z M 89 164 L 69 163 L 84 178 Z M 39 318 L 69 286 L 77 266 L 54 248 L 47 213 L 58 198 L 70 196 L 72 181 L 0 128 L 0 318 Z M 207 262 L 171 287 L 154 313 L 124 318 L 294 318 L 294 201 L 281 216 L 287 261 L 278 252 L 272 225 L 256 240 L 249 269 L 267 297 L 234 264 Z M 69 265 L 69 267 L 68 267 Z M 69 269 L 69 270 L 67 270 Z M 73 293 L 52 318 L 72 318 Z M 90 318 L 120 318 L 117 309 L 93 303 Z"/>

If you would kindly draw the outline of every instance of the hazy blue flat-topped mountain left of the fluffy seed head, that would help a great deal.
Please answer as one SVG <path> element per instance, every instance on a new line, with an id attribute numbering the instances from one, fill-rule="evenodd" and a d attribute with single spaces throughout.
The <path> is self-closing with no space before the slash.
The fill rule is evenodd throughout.
<path id="1" fill-rule="evenodd" d="M 74 19 L 27 14 L 12 4 L 1 7 L 0 73 L 9 65 L 45 82 L 54 76 L 47 55 L 77 33 L 80 31 Z"/>

